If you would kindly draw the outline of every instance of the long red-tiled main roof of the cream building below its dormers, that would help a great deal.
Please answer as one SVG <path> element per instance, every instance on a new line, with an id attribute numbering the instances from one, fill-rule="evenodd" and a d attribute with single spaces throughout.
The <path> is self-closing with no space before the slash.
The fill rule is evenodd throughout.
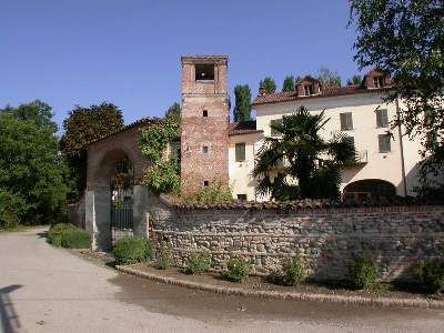
<path id="1" fill-rule="evenodd" d="M 359 94 L 359 93 L 369 93 L 375 91 L 386 91 L 391 88 L 383 89 L 369 89 L 362 85 L 346 85 L 346 87 L 337 87 L 337 88 L 324 88 L 322 93 L 313 94 L 313 95 L 297 95 L 297 91 L 286 91 L 286 92 L 275 92 L 275 93 L 266 93 L 262 95 L 258 95 L 253 101 L 252 105 L 261 105 L 268 103 L 281 103 L 289 102 L 295 100 L 305 100 L 305 99 L 320 99 L 320 98 L 329 98 L 329 97 L 340 97 L 347 94 Z"/>

